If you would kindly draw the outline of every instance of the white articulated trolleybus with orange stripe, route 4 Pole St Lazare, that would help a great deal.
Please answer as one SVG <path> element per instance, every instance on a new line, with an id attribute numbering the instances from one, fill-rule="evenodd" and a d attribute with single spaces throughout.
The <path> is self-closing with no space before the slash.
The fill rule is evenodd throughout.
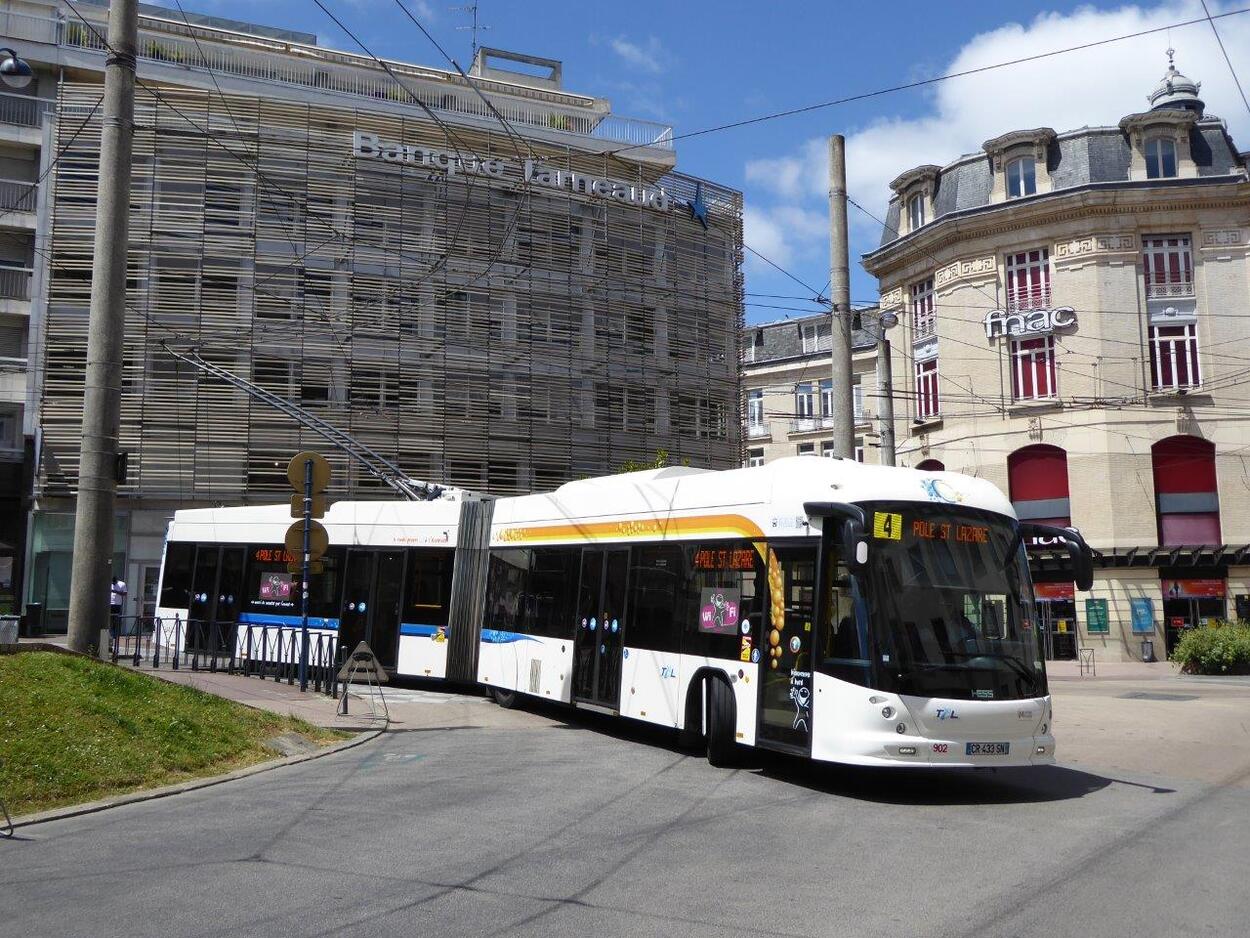
<path id="1" fill-rule="evenodd" d="M 298 620 L 286 507 L 170 525 L 162 617 L 242 654 Z M 755 745 L 860 765 L 1054 762 L 1025 544 L 1064 543 L 956 473 L 792 458 L 658 469 L 546 494 L 350 503 L 325 518 L 311 624 L 398 675 L 479 682 L 672 727 L 709 758 Z"/>

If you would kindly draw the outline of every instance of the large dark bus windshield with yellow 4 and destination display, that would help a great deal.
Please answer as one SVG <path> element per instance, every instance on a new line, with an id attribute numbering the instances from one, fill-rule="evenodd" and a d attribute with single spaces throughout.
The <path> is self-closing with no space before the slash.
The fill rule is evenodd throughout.
<path id="1" fill-rule="evenodd" d="M 1046 672 L 1016 525 L 952 505 L 865 505 L 869 602 L 886 689 L 972 700 L 1039 697 Z"/>

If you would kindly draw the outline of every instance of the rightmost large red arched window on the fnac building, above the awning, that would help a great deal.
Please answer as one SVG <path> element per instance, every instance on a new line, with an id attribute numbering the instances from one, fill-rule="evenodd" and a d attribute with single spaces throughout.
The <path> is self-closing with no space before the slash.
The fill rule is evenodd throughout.
<path id="1" fill-rule="evenodd" d="M 1220 543 L 1215 444 L 1169 436 L 1150 448 L 1158 499 L 1159 547 Z"/>

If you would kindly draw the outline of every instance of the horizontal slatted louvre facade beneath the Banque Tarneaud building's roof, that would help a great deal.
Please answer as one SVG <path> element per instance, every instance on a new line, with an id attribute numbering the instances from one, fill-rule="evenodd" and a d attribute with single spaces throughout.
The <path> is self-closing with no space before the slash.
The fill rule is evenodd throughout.
<path id="1" fill-rule="evenodd" d="M 76 480 L 99 99 L 99 85 L 65 85 L 56 126 L 44 498 Z M 124 497 L 271 502 L 289 492 L 288 459 L 321 448 L 164 344 L 198 348 L 421 479 L 511 494 L 658 450 L 739 464 L 739 193 L 502 126 L 452 140 L 384 110 L 161 88 L 139 90 L 136 124 Z M 358 158 L 354 131 L 509 171 Z M 528 159 L 661 188 L 672 205 L 544 186 Z M 706 229 L 681 200 L 706 204 Z M 326 455 L 334 497 L 389 495 Z"/>

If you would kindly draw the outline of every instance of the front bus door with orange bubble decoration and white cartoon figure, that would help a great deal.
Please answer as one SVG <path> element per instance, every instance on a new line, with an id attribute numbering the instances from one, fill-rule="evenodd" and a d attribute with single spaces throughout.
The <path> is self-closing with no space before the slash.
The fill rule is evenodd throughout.
<path id="1" fill-rule="evenodd" d="M 769 633 L 760 665 L 760 745 L 811 753 L 816 545 L 769 548 Z"/>

